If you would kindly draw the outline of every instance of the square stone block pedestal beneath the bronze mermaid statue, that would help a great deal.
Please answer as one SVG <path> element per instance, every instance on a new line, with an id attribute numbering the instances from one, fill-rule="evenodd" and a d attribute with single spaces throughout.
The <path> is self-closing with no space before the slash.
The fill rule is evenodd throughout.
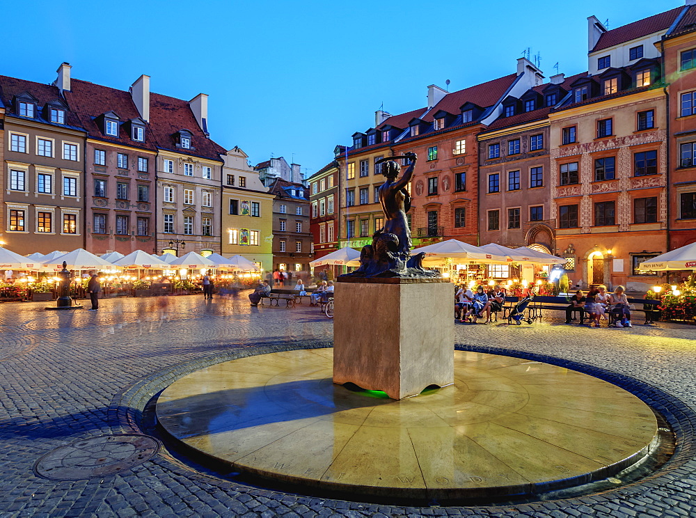
<path id="1" fill-rule="evenodd" d="M 335 285 L 333 382 L 395 400 L 454 383 L 454 290 L 442 279 Z"/>

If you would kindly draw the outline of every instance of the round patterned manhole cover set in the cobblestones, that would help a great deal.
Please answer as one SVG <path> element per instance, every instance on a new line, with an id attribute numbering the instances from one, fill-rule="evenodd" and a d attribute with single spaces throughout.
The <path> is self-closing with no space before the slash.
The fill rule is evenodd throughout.
<path id="1" fill-rule="evenodd" d="M 103 435 L 61 446 L 34 465 L 38 476 L 53 480 L 84 480 L 132 469 L 159 450 L 159 441 L 149 435 Z"/>

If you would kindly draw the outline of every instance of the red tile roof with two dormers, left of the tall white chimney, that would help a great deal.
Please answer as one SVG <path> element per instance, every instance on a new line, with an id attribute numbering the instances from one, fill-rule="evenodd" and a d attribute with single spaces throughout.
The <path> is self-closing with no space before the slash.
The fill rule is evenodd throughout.
<path id="1" fill-rule="evenodd" d="M 77 113 L 80 125 L 87 130 L 89 136 L 136 148 L 157 149 L 155 134 L 150 125 L 145 125 L 145 142 L 139 142 L 132 140 L 124 127 L 120 128 L 118 137 L 105 135 L 94 120 L 95 117 L 108 111 L 116 113 L 122 122 L 139 118 L 140 113 L 130 93 L 80 79 L 71 79 L 70 88 L 70 92 L 65 92 L 65 99 L 70 104 L 70 108 Z"/>

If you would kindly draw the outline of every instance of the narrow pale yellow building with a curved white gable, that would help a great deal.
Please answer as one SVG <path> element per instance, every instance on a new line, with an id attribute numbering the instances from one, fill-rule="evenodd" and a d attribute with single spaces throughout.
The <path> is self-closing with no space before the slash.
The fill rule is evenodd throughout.
<path id="1" fill-rule="evenodd" d="M 263 272 L 273 269 L 273 199 L 248 155 L 238 147 L 222 155 L 222 255 L 255 262 Z"/>

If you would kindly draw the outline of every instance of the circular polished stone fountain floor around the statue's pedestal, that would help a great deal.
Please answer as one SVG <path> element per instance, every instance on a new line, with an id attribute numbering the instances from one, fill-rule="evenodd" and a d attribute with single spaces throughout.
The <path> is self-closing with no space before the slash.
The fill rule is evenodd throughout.
<path id="1" fill-rule="evenodd" d="M 175 439 L 234 469 L 354 494 L 466 498 L 611 476 L 647 455 L 651 409 L 547 363 L 454 352 L 453 386 L 394 401 L 331 381 L 332 349 L 193 372 L 157 401 Z"/>

